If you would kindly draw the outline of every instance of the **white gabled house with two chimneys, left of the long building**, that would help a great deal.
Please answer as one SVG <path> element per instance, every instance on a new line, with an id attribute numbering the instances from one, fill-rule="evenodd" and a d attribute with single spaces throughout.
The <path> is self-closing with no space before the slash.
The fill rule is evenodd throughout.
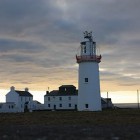
<path id="1" fill-rule="evenodd" d="M 25 91 L 19 91 L 11 87 L 10 92 L 6 94 L 6 103 L 8 102 L 15 104 L 17 112 L 31 111 L 33 95 L 29 93 L 28 88 L 25 88 Z"/>

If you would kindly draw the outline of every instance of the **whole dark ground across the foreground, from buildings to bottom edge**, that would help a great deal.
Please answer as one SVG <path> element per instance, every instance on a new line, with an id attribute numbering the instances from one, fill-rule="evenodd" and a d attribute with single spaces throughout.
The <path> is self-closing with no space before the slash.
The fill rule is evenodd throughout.
<path id="1" fill-rule="evenodd" d="M 140 110 L 0 114 L 0 140 L 139 140 Z"/>

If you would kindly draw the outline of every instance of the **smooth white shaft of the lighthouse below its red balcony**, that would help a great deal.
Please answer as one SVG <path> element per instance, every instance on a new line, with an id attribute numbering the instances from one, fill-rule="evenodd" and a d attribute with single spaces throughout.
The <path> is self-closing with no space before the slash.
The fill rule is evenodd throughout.
<path id="1" fill-rule="evenodd" d="M 85 82 L 88 78 L 88 82 Z M 99 66 L 97 62 L 79 63 L 78 110 L 101 110 Z M 88 104 L 88 108 L 85 107 Z"/>

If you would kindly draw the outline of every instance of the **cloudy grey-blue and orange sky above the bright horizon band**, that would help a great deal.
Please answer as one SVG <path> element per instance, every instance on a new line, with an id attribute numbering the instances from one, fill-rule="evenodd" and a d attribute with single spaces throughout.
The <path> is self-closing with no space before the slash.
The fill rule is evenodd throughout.
<path id="1" fill-rule="evenodd" d="M 101 92 L 140 88 L 139 0 L 1 0 L 0 89 L 78 87 L 78 53 L 92 31 Z"/>

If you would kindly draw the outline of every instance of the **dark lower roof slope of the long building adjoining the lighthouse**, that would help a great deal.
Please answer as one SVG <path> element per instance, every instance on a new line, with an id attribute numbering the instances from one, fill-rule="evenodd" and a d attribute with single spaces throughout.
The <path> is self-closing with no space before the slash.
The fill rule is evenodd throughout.
<path id="1" fill-rule="evenodd" d="M 75 93 L 60 93 L 59 90 L 53 90 L 46 94 L 45 96 L 72 96 L 72 95 L 78 95 L 78 90 L 76 90 Z"/>

